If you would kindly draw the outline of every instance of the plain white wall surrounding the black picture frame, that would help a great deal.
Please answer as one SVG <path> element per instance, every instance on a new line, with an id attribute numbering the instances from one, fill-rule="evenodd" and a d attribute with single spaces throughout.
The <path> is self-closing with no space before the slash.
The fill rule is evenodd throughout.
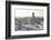
<path id="1" fill-rule="evenodd" d="M 50 2 L 51 3 L 51 0 L 18 0 L 18 1 Z M 51 4 L 50 4 L 50 10 L 51 10 Z M 51 11 L 50 11 L 50 20 L 51 20 Z M 50 28 L 50 31 L 51 31 L 51 28 Z M 0 40 L 6 40 L 4 38 L 6 38 L 6 0 L 0 0 Z M 16 40 L 51 40 L 51 37 L 27 38 L 27 39 L 16 39 Z"/>

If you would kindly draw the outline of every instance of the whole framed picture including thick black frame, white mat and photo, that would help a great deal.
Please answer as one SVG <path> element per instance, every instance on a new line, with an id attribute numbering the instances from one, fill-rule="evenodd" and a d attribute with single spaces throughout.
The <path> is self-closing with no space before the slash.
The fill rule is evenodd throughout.
<path id="1" fill-rule="evenodd" d="M 49 37 L 49 3 L 6 2 L 7 39 Z"/>

